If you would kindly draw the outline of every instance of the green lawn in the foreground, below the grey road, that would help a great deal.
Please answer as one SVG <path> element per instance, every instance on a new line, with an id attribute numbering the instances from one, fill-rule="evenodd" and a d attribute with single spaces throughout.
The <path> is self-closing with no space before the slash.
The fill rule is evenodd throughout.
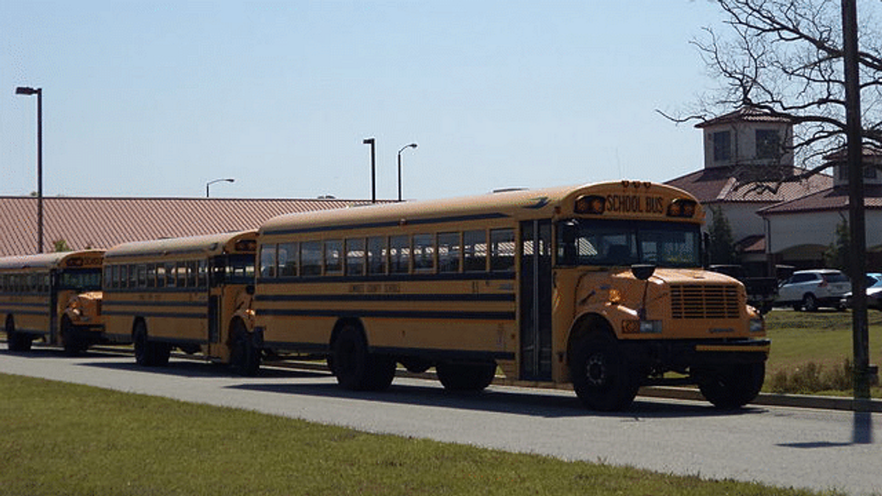
<path id="1" fill-rule="evenodd" d="M 3 374 L 0 398 L 4 496 L 818 494 L 367 434 Z"/>

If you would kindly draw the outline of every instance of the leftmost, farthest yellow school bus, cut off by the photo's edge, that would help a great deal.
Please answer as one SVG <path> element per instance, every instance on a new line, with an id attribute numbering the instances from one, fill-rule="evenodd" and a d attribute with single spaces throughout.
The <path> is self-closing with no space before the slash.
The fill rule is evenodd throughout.
<path id="1" fill-rule="evenodd" d="M 34 340 L 77 354 L 101 341 L 103 250 L 0 258 L 0 315 L 11 351 L 27 351 Z M 81 302 L 69 305 L 72 300 Z"/>

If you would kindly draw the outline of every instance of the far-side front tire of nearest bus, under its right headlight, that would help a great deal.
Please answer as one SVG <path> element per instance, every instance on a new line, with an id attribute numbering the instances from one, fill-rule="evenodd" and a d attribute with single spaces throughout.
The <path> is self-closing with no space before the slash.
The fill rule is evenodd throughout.
<path id="1" fill-rule="evenodd" d="M 752 402 L 766 379 L 766 364 L 736 364 L 699 372 L 699 390 L 721 410 L 736 410 Z"/>

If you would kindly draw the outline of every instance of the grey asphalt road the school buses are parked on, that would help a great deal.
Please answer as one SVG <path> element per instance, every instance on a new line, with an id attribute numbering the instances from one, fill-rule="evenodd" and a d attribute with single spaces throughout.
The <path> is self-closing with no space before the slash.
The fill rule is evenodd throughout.
<path id="1" fill-rule="evenodd" d="M 0 344 L 0 372 L 188 402 L 258 410 L 361 431 L 632 465 L 663 473 L 882 494 L 882 414 L 751 407 L 639 397 L 632 410 L 583 410 L 566 391 L 492 386 L 453 395 L 435 381 L 396 378 L 384 393 L 340 389 L 324 372 L 264 369 L 235 377 L 172 358 L 146 369 L 132 357 L 64 357 Z"/>

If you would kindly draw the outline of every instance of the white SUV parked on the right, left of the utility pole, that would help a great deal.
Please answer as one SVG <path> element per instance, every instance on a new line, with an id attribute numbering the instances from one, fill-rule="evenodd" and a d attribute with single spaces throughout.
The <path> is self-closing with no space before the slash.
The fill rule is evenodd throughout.
<path id="1" fill-rule="evenodd" d="M 778 288 L 776 305 L 790 305 L 794 310 L 814 312 L 828 306 L 844 309 L 842 297 L 851 291 L 848 276 L 841 271 L 822 268 L 797 270 Z"/>

